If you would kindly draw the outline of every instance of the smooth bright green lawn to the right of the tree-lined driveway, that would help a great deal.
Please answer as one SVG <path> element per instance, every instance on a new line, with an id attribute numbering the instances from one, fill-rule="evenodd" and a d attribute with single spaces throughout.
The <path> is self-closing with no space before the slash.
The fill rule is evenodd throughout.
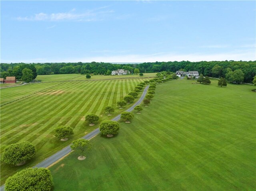
<path id="1" fill-rule="evenodd" d="M 255 98 L 250 85 L 217 87 L 177 80 L 117 136 L 91 140 L 50 167 L 54 190 L 255 190 Z"/>

